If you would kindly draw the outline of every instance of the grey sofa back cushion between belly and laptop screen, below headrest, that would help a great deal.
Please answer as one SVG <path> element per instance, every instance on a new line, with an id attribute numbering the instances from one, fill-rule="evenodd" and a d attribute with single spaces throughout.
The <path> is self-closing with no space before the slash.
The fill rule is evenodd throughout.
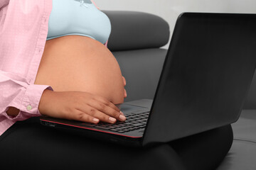
<path id="1" fill-rule="evenodd" d="M 113 52 L 127 80 L 125 101 L 154 98 L 166 52 L 159 48 Z"/>

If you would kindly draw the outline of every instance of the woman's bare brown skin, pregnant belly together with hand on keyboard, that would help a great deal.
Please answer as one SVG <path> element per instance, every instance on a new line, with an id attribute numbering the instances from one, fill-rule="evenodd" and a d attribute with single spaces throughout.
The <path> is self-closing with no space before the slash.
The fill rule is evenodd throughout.
<path id="1" fill-rule="evenodd" d="M 114 104 L 127 93 L 117 60 L 102 43 L 80 35 L 46 41 L 34 84 L 46 84 L 38 110 L 54 118 L 115 123 L 126 118 Z M 16 111 L 15 111 L 16 110 Z M 6 113 L 18 114 L 10 108 Z"/>

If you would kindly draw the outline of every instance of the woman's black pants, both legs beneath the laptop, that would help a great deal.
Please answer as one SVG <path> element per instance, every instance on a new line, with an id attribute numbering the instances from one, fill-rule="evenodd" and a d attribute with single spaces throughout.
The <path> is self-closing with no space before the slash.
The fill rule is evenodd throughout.
<path id="1" fill-rule="evenodd" d="M 0 137 L 1 169 L 216 169 L 233 142 L 230 125 L 150 148 L 132 148 L 15 123 Z"/>

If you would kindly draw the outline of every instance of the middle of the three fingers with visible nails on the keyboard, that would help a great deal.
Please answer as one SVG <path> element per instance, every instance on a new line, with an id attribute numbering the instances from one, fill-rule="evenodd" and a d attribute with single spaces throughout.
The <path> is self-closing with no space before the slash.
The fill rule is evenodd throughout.
<path id="1" fill-rule="evenodd" d="M 80 108 L 79 108 L 80 109 Z M 98 111 L 96 108 L 93 108 L 89 105 L 86 107 L 81 108 L 82 112 L 86 113 L 87 115 L 92 116 L 93 118 L 97 118 L 102 122 L 105 123 L 116 123 L 117 119 Z"/>

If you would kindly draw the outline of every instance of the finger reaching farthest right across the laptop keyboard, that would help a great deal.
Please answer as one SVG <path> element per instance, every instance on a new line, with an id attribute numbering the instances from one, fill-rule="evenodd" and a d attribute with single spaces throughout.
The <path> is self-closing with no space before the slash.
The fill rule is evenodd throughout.
<path id="1" fill-rule="evenodd" d="M 104 103 L 95 101 L 95 102 L 89 103 L 88 105 L 91 106 L 92 108 L 97 109 L 97 111 L 105 113 L 106 115 L 109 115 L 110 117 L 115 118 L 117 120 L 120 120 L 120 121 L 126 120 L 125 116 L 122 115 L 120 111 L 116 111 L 114 110 L 114 108 L 111 108 L 110 106 L 107 106 Z"/>

